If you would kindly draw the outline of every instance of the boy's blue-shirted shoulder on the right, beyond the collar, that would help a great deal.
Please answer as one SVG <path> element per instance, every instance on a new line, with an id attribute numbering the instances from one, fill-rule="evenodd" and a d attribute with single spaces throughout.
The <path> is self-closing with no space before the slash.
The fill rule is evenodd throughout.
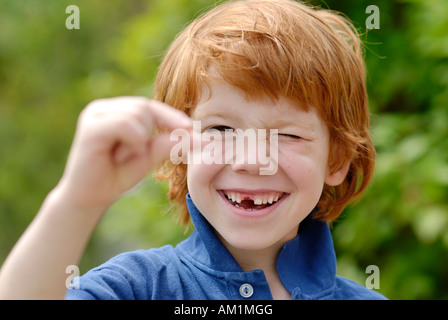
<path id="1" fill-rule="evenodd" d="M 334 298 L 336 300 L 387 300 L 379 292 L 349 280 L 336 276 Z"/>

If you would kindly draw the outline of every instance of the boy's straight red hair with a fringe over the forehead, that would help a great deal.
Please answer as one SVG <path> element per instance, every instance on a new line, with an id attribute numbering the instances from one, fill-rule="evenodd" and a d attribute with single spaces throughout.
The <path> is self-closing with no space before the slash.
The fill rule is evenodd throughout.
<path id="1" fill-rule="evenodd" d="M 314 216 L 334 220 L 371 180 L 375 149 L 369 133 L 362 44 L 341 15 L 290 0 L 230 1 L 193 21 L 178 35 L 160 66 L 154 98 L 191 115 L 210 65 L 249 98 L 263 93 L 315 107 L 330 131 L 330 171 L 350 162 L 344 182 L 325 185 Z M 187 167 L 167 161 L 169 198 L 185 203 Z"/>

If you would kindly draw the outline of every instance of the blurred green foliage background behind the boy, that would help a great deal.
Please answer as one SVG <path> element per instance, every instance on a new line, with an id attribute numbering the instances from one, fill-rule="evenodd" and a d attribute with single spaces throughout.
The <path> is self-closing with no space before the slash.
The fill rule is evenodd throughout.
<path id="1" fill-rule="evenodd" d="M 97 98 L 151 96 L 174 36 L 211 0 L 0 2 L 0 263 L 61 176 L 76 120 Z M 448 298 L 448 1 L 318 0 L 366 43 L 378 158 L 362 200 L 334 224 L 338 273 L 365 284 L 380 269 L 391 299 Z M 68 5 L 80 29 L 68 30 Z M 368 5 L 380 29 L 367 32 Z M 90 241 L 85 272 L 137 248 L 188 235 L 166 213 L 165 183 L 118 201 Z"/>

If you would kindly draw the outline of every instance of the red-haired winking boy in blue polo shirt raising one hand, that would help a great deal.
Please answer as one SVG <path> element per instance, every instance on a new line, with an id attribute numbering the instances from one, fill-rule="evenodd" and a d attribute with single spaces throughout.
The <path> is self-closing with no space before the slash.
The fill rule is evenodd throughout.
<path id="1" fill-rule="evenodd" d="M 82 112 L 61 181 L 2 268 L 0 297 L 382 299 L 336 276 L 327 224 L 372 176 L 364 76 L 359 38 L 334 13 L 288 0 L 212 9 L 173 42 L 155 100 L 105 99 Z M 193 141 L 187 164 L 167 161 L 158 174 L 193 234 L 118 255 L 66 292 L 65 269 L 102 214 L 168 158 L 170 131 L 191 132 L 191 119 L 214 139 Z M 260 174 L 259 145 L 229 159 L 233 146 L 219 139 L 255 128 L 274 146 L 270 174 Z M 226 160 L 191 161 L 209 146 Z"/>

